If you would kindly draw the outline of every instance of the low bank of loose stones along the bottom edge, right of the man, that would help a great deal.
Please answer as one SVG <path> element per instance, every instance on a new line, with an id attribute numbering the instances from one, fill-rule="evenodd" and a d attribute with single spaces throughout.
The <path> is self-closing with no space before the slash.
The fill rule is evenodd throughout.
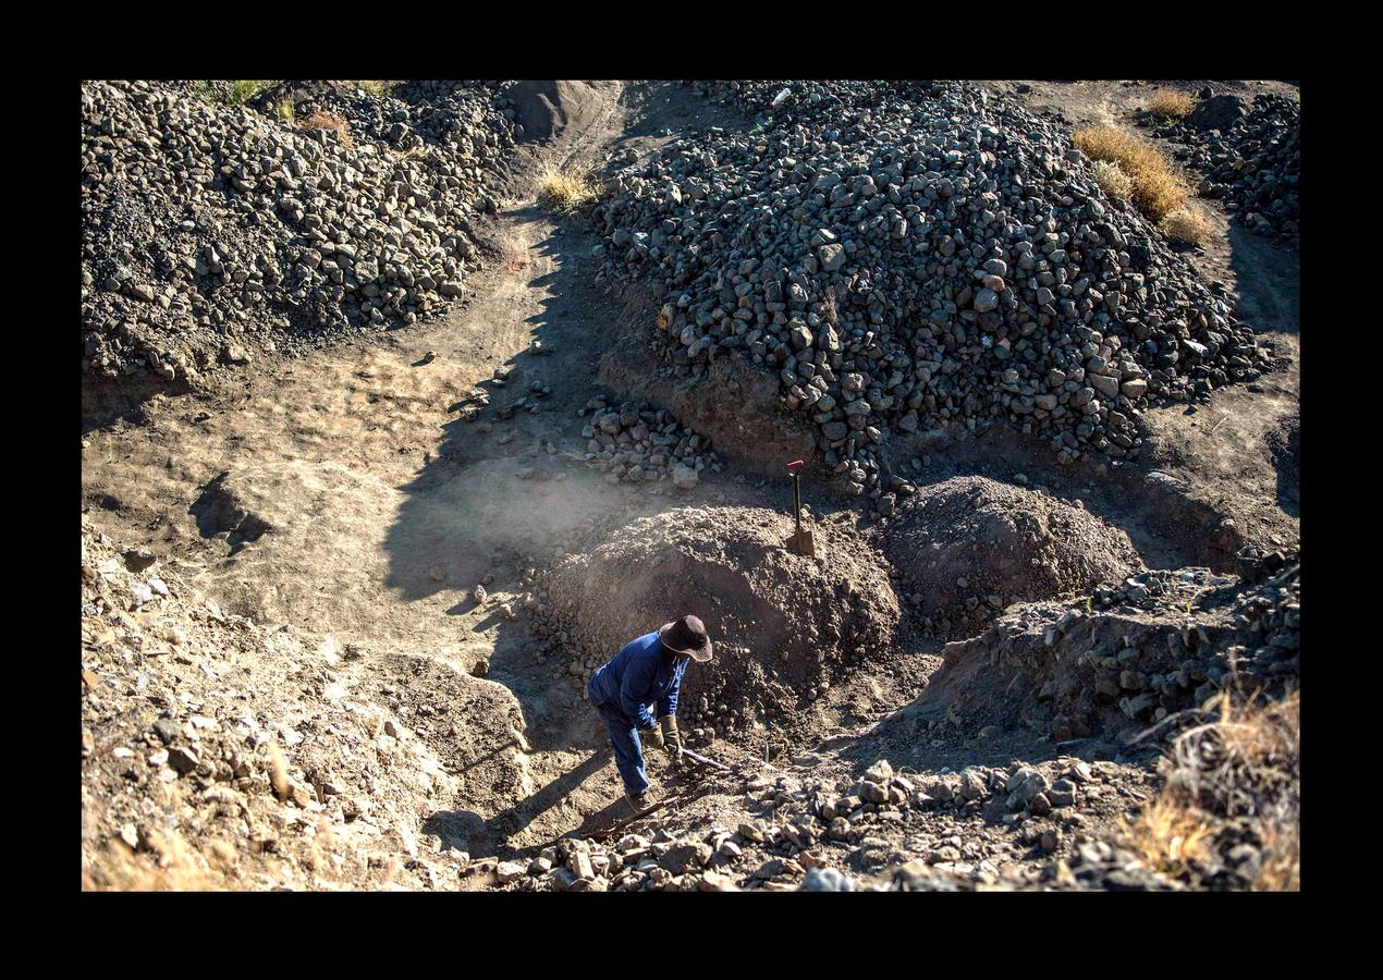
<path id="1" fill-rule="evenodd" d="M 741 764 L 622 832 L 563 838 L 485 871 L 517 892 L 1117 887 L 1106 878 L 1116 868 L 1066 867 L 1083 849 L 1112 853 L 1080 811 L 1122 813 L 1126 793 L 1147 786 L 1142 770 L 1070 756 L 917 774 L 882 757 L 855 773 L 808 753 L 786 769 Z M 1010 809 L 1014 793 L 1051 799 L 1037 814 Z M 1137 861 L 1117 871 L 1127 887 L 1180 887 Z"/>

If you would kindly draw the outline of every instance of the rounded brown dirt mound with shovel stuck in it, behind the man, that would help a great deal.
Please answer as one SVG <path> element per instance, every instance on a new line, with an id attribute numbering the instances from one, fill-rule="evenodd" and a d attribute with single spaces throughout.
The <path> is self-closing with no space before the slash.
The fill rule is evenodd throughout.
<path id="1" fill-rule="evenodd" d="M 535 616 L 588 679 L 636 636 L 683 614 L 705 621 L 678 715 L 693 738 L 799 708 L 899 623 L 882 560 L 852 531 L 819 524 L 817 558 L 783 547 L 791 521 L 761 507 L 687 507 L 640 518 L 546 578 Z"/>

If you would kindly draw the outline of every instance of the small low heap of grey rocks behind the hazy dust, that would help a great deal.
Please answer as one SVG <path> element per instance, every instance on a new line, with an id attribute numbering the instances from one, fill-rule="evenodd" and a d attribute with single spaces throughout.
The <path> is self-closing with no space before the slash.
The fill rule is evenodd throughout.
<path id="1" fill-rule="evenodd" d="M 678 489 L 692 489 L 703 471 L 721 471 L 709 440 L 679 423 L 667 409 L 632 401 L 610 405 L 600 395 L 581 409 L 581 415 L 588 413 L 591 422 L 581 430 L 586 464 L 603 470 L 611 484 L 671 480 Z"/>

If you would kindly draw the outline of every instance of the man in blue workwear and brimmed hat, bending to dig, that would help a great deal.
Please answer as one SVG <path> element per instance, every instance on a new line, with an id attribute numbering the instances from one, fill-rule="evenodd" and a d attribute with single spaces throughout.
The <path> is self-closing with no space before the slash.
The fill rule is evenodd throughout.
<path id="1" fill-rule="evenodd" d="M 690 661 L 705 663 L 709 659 L 711 640 L 705 625 L 696 616 L 682 616 L 629 641 L 596 670 L 586 687 L 591 706 L 610 733 L 614 762 L 624 780 L 624 799 L 636 814 L 653 806 L 639 733 L 653 733 L 649 741 L 661 744 L 674 766 L 680 763 L 682 735 L 678 733 L 676 710 L 682 675 Z M 654 705 L 657 722 L 650 712 Z M 661 737 L 657 734 L 660 724 Z"/>

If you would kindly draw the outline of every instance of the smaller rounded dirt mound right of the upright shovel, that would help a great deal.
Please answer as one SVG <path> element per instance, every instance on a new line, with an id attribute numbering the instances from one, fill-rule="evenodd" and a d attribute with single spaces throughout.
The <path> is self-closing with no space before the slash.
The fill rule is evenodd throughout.
<path id="1" fill-rule="evenodd" d="M 924 487 L 888 524 L 903 590 L 942 634 L 1011 603 L 1057 599 L 1141 567 L 1123 531 L 1082 507 L 985 477 Z"/>

